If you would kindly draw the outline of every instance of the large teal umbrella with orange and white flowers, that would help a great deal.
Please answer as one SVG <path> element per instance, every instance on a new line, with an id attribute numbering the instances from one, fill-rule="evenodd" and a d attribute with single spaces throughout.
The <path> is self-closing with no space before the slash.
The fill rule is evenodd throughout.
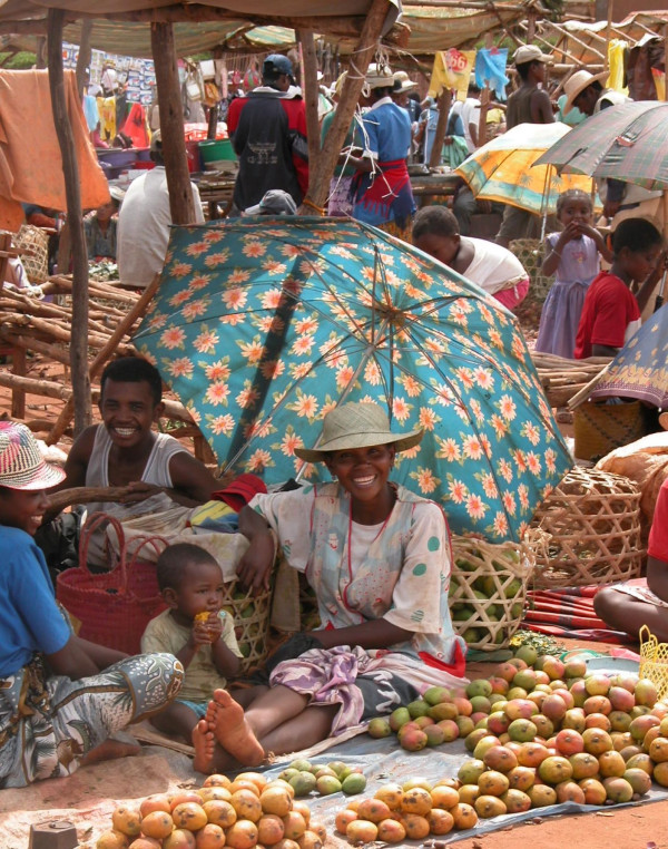
<path id="1" fill-rule="evenodd" d="M 571 466 L 514 318 L 374 227 L 239 218 L 176 227 L 135 342 L 224 468 L 314 481 L 294 449 L 344 401 L 422 427 L 394 479 L 456 533 L 518 539 Z"/>

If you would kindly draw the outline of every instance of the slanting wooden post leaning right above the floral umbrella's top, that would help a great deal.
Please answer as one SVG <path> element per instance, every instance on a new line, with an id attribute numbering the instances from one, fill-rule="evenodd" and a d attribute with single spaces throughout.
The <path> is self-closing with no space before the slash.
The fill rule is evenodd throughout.
<path id="1" fill-rule="evenodd" d="M 322 207 L 327 199 L 330 180 L 334 174 L 345 135 L 353 120 L 355 106 L 364 84 L 364 75 L 375 52 L 389 9 L 390 3 L 387 0 L 373 0 L 366 14 L 360 41 L 353 53 L 355 57 L 354 66 L 351 65 L 351 70 L 343 84 L 341 99 L 321 150 L 318 168 L 311 168 L 308 172 L 308 192 L 306 193 L 306 198 L 314 206 Z M 299 208 L 299 213 L 303 215 L 310 215 L 312 212 L 307 205 L 303 205 Z"/>

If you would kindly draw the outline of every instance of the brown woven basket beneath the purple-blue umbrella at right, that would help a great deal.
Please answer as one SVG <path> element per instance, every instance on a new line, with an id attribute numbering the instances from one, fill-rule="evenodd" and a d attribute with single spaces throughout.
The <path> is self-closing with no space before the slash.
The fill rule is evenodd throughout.
<path id="1" fill-rule="evenodd" d="M 596 403 L 576 408 L 573 435 L 576 457 L 596 462 L 619 446 L 635 442 L 647 432 L 640 401 Z"/>

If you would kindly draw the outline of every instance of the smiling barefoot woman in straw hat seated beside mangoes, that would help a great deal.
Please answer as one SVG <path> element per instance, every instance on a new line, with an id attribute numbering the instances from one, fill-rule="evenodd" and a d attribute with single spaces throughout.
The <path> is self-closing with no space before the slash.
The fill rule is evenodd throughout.
<path id="1" fill-rule="evenodd" d="M 277 536 L 315 591 L 322 625 L 297 635 L 299 648 L 283 653 L 288 660 L 273 667 L 268 690 L 245 714 L 216 691 L 194 733 L 196 769 L 258 765 L 269 751 L 350 736 L 429 686 L 461 683 L 445 518 L 436 504 L 389 480 L 397 452 L 422 433 L 392 431 L 374 403 L 337 407 L 325 416 L 320 445 L 295 449 L 307 462 L 324 462 L 335 482 L 256 496 L 242 511 L 239 529 L 250 543 L 242 580 L 266 585 Z"/>

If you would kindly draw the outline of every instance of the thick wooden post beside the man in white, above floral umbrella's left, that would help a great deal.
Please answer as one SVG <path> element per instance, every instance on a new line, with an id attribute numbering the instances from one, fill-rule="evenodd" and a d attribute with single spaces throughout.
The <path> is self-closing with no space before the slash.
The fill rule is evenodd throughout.
<path id="1" fill-rule="evenodd" d="M 195 204 L 186 158 L 184 114 L 171 23 L 150 25 L 150 45 L 156 69 L 163 157 L 169 188 L 173 224 L 193 224 Z"/>

